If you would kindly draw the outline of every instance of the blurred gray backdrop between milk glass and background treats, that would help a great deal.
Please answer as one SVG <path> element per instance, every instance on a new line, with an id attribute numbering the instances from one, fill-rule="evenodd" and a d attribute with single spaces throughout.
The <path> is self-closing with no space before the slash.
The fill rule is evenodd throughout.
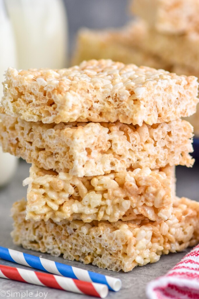
<path id="1" fill-rule="evenodd" d="M 68 12 L 70 56 L 80 27 L 120 28 L 130 19 L 129 0 L 64 0 Z"/>

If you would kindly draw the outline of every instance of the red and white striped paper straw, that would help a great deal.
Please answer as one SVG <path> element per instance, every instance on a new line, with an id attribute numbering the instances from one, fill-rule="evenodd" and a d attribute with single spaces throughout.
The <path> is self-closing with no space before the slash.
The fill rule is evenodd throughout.
<path id="1" fill-rule="evenodd" d="M 108 294 L 108 287 L 104 284 L 4 265 L 0 265 L 0 277 L 99 298 L 105 298 Z"/>

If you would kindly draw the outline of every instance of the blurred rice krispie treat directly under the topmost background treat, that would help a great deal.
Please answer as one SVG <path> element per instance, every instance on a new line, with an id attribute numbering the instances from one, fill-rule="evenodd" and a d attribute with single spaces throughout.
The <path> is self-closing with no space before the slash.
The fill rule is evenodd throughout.
<path id="1" fill-rule="evenodd" d="M 136 39 L 130 39 L 131 32 L 140 26 L 142 35 Z M 142 20 L 131 22 L 126 26 L 126 38 L 121 41 L 128 47 L 139 47 L 144 49 L 148 55 L 157 56 L 168 65 L 184 65 L 198 71 L 199 64 L 199 31 L 189 32 L 181 35 L 162 34 L 147 26 Z"/>

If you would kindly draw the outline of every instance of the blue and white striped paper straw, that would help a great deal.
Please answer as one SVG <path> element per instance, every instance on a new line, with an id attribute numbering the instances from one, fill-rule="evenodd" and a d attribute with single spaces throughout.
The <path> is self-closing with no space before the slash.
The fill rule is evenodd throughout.
<path id="1" fill-rule="evenodd" d="M 53 262 L 32 254 L 26 254 L 21 251 L 0 246 L 0 258 L 17 264 L 32 267 L 49 273 L 70 277 L 87 282 L 102 283 L 108 286 L 111 291 L 121 289 L 121 280 L 111 276 L 83 270 L 62 263 Z"/>

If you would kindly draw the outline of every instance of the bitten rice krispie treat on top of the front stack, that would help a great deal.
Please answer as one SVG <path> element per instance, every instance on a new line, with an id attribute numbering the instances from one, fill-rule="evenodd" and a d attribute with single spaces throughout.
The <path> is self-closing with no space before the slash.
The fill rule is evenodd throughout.
<path id="1" fill-rule="evenodd" d="M 192 115 L 197 95 L 194 76 L 90 60 L 62 70 L 8 68 L 1 112 L 43 123 L 120 120 L 142 126 Z"/>

